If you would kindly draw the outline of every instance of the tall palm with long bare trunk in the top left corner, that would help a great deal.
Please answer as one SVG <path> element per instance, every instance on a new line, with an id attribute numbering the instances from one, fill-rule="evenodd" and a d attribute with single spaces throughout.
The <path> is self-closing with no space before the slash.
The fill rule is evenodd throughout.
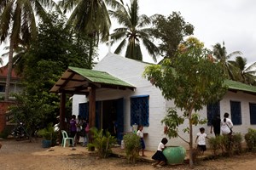
<path id="1" fill-rule="evenodd" d="M 0 0 L 0 41 L 9 41 L 9 63 L 4 100 L 9 100 L 10 77 L 13 68 L 13 55 L 19 44 L 29 44 L 36 37 L 35 16 L 43 16 L 43 7 L 56 7 L 53 0 Z"/>

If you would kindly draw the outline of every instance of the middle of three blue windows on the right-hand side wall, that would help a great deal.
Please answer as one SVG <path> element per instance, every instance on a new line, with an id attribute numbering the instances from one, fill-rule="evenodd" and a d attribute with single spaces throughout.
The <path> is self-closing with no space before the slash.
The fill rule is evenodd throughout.
<path id="1" fill-rule="evenodd" d="M 230 100 L 231 121 L 234 125 L 241 125 L 241 102 Z"/>

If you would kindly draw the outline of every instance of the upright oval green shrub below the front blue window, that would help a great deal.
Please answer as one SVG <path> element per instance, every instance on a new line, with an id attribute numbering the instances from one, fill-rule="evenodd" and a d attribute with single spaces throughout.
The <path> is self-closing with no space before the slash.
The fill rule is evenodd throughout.
<path id="1" fill-rule="evenodd" d="M 124 135 L 124 143 L 128 161 L 135 163 L 141 148 L 140 138 L 135 133 L 126 133 Z"/>

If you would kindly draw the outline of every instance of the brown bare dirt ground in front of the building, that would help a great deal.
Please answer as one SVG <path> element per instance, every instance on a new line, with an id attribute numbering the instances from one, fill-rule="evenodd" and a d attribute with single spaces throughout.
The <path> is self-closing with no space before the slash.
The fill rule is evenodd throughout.
<path id="1" fill-rule="evenodd" d="M 0 150 L 0 169 L 2 170 L 151 170 L 151 163 L 139 161 L 129 164 L 124 158 L 109 157 L 98 159 L 95 153 L 88 152 L 84 147 L 77 146 L 76 150 L 61 146 L 44 149 L 41 141 L 30 143 L 27 140 L 0 139 L 3 144 Z M 201 161 L 194 169 L 256 169 L 256 154 L 247 153 L 231 158 Z M 165 166 L 161 169 L 189 169 L 189 165 Z"/>

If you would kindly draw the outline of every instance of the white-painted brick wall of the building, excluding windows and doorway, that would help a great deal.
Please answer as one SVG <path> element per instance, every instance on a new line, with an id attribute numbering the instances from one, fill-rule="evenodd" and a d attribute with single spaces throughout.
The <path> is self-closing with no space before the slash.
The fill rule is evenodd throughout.
<path id="1" fill-rule="evenodd" d="M 130 97 L 137 95 L 149 95 L 149 127 L 144 127 L 143 132 L 148 133 L 145 135 L 145 144 L 146 150 L 156 150 L 157 145 L 160 143 L 160 140 L 163 137 L 166 137 L 164 134 L 164 126 L 160 121 L 166 116 L 166 110 L 169 107 L 173 107 L 173 101 L 166 101 L 158 88 L 155 88 L 142 77 L 145 66 L 149 64 L 133 60 L 125 59 L 117 54 L 108 54 L 105 56 L 93 70 L 96 71 L 107 71 L 113 77 L 118 77 L 119 79 L 130 83 L 136 87 L 136 90 L 133 92 L 131 90 L 115 90 L 115 89 L 106 89 L 101 88 L 96 90 L 96 100 L 107 100 L 107 99 L 125 99 L 124 106 L 124 131 L 131 132 L 131 111 L 130 111 Z M 220 101 L 220 113 L 223 117 L 224 112 L 230 113 L 230 99 L 241 101 L 241 114 L 242 114 L 242 125 L 235 126 L 235 132 L 241 132 L 242 134 L 247 133 L 248 127 L 256 128 L 255 125 L 250 125 L 250 113 L 249 113 L 249 102 L 256 103 L 256 96 L 251 94 L 244 94 L 242 92 L 232 93 L 228 92 L 222 101 Z M 79 103 L 84 103 L 84 96 L 73 96 L 73 114 L 79 113 Z M 181 111 L 178 111 L 179 114 L 183 114 Z M 207 107 L 204 107 L 202 111 L 199 111 L 202 117 L 207 117 Z M 183 128 L 187 127 L 188 121 L 184 122 L 182 126 L 179 127 L 179 133 L 184 138 L 189 140 L 189 134 L 183 133 Z M 200 127 L 206 128 L 206 133 L 208 137 L 213 137 L 213 134 L 210 134 L 210 127 L 206 125 L 199 125 L 193 127 L 193 141 L 195 141 L 196 133 L 199 132 Z M 189 145 L 185 143 L 182 139 L 169 139 L 168 145 L 183 145 L 185 148 L 188 148 Z M 196 144 L 195 144 L 196 145 Z"/>

